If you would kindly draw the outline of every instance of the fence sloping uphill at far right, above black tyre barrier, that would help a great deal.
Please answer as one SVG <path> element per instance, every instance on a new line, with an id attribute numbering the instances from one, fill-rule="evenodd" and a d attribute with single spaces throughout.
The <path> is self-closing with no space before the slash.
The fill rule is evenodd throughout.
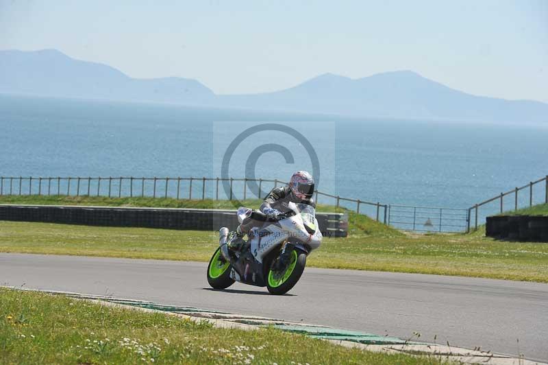
<path id="1" fill-rule="evenodd" d="M 545 183 L 544 186 L 542 183 Z M 544 187 L 544 189 L 538 189 L 538 187 Z M 537 189 L 535 189 L 537 188 Z M 522 190 L 529 190 L 528 196 L 525 197 L 519 197 L 519 192 Z M 537 193 L 535 194 L 535 191 Z M 505 210 L 505 201 L 504 198 L 506 196 L 514 196 L 514 199 L 510 201 L 510 209 Z M 525 198 L 525 200 L 523 199 Z M 540 199 L 539 199 L 540 198 Z M 527 185 L 523 185 L 522 187 L 516 187 L 515 189 L 512 189 L 510 191 L 506 191 L 506 193 L 502 192 L 497 196 L 494 196 L 493 198 L 490 198 L 488 200 L 485 200 L 484 202 L 479 202 L 477 204 L 474 204 L 472 207 L 468 209 L 468 217 L 469 221 L 466 226 L 466 232 L 469 232 L 472 228 L 472 219 L 473 219 L 473 228 L 474 230 L 477 230 L 478 226 L 478 220 L 480 216 L 480 207 L 484 207 L 488 204 L 491 204 L 490 212 L 491 213 L 503 213 L 504 211 L 517 211 L 520 207 L 532 207 L 534 204 L 539 203 L 546 203 L 548 204 L 548 175 L 544 178 L 540 178 L 535 181 L 531 181 Z M 525 203 L 525 204 L 524 204 Z M 495 207 L 493 207 L 493 204 L 497 204 Z M 508 200 L 506 201 L 507 207 L 508 207 Z"/>

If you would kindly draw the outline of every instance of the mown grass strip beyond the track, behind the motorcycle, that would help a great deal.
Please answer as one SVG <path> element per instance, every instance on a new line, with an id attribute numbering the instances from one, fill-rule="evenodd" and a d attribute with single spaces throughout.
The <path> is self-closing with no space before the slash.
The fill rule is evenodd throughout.
<path id="1" fill-rule="evenodd" d="M 182 204 L 182 203 L 181 203 Z M 325 238 L 307 266 L 548 283 L 548 245 L 470 234 L 404 234 L 349 213 L 351 235 Z M 0 222 L 0 252 L 208 261 L 214 232 Z"/>

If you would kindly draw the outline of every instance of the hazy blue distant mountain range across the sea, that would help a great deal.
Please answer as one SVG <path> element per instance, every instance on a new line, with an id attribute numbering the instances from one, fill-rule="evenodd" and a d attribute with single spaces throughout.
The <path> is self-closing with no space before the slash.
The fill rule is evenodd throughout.
<path id="1" fill-rule="evenodd" d="M 548 104 L 470 95 L 412 71 L 356 80 L 326 73 L 274 93 L 216 95 L 197 80 L 130 78 L 106 64 L 75 60 L 55 49 L 0 51 L 0 93 L 358 118 L 548 122 Z"/>

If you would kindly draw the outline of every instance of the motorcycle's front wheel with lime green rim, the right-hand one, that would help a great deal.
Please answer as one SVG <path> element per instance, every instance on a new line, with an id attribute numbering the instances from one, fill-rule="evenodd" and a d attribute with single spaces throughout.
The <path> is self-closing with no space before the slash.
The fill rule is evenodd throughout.
<path id="1" fill-rule="evenodd" d="M 266 278 L 266 287 L 271 294 L 286 294 L 297 284 L 306 266 L 306 253 L 300 250 L 291 250 L 288 264 L 281 269 L 274 269 L 275 261 L 271 263 L 269 274 Z"/>

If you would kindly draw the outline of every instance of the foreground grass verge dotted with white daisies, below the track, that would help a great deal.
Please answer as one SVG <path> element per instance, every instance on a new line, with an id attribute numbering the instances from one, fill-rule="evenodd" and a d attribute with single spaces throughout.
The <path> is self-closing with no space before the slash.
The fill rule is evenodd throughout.
<path id="1" fill-rule="evenodd" d="M 440 364 L 38 292 L 0 288 L 0 304 L 1 364 Z"/>

